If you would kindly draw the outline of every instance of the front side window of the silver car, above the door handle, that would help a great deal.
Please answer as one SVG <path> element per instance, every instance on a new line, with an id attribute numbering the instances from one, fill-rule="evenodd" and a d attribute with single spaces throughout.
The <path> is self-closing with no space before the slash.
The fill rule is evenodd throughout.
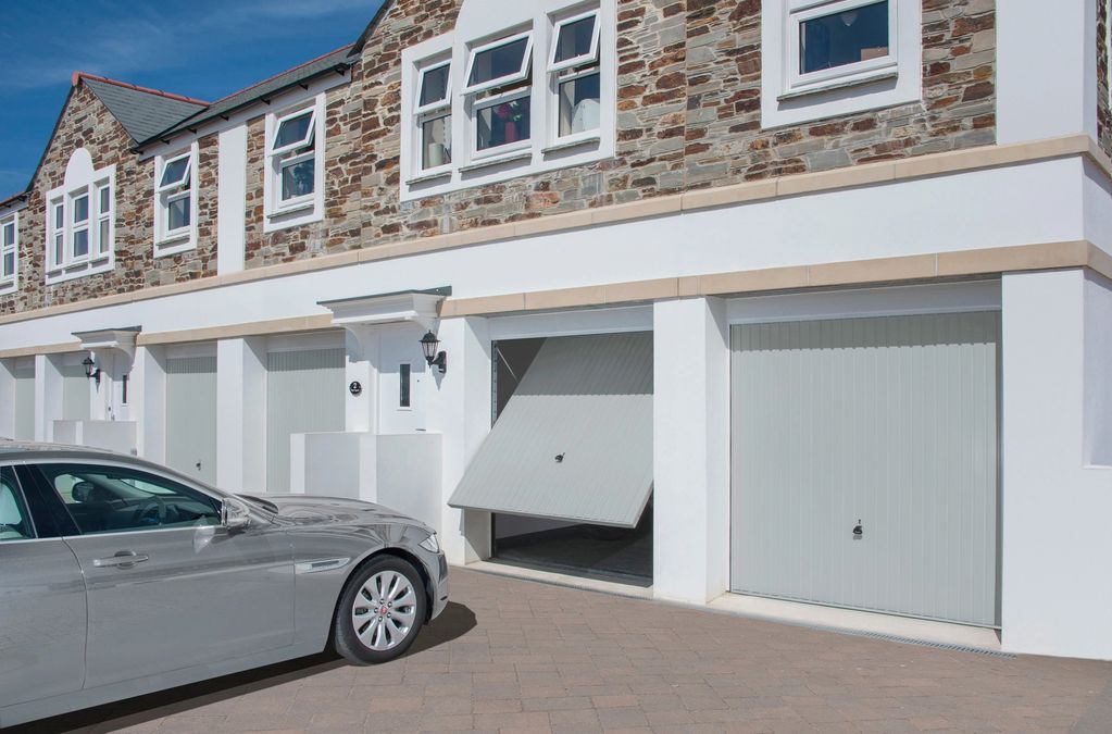
<path id="1" fill-rule="evenodd" d="M 220 503 L 165 477 L 122 466 L 43 464 L 82 535 L 220 524 Z"/>

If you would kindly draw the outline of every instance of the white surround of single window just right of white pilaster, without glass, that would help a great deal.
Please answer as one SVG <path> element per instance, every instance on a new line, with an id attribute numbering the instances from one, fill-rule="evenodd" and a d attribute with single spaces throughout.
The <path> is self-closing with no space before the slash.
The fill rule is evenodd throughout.
<path id="1" fill-rule="evenodd" d="M 325 115 L 326 93 L 320 91 L 309 97 L 290 100 L 281 109 L 267 112 L 265 121 L 265 145 L 264 176 L 262 176 L 262 209 L 264 221 L 262 231 L 271 232 L 289 227 L 320 221 L 325 217 Z M 274 155 L 274 138 L 278 129 L 278 121 L 282 118 L 296 115 L 297 112 L 312 109 L 314 116 L 314 171 L 315 180 L 312 195 L 307 200 L 298 201 L 292 206 L 279 206 L 278 197 L 281 191 L 279 157 Z"/>

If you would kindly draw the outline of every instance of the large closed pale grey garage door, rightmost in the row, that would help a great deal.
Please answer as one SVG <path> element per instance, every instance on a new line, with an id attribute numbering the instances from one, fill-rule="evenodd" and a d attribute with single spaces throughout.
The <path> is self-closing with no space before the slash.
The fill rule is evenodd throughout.
<path id="1" fill-rule="evenodd" d="M 995 626 L 999 313 L 733 328 L 731 586 Z"/>

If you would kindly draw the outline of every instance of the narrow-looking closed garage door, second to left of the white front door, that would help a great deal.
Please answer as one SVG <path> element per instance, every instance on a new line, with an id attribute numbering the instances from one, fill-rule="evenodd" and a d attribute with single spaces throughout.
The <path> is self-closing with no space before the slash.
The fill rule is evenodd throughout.
<path id="1" fill-rule="evenodd" d="M 216 483 L 216 357 L 166 360 L 166 463 Z"/>

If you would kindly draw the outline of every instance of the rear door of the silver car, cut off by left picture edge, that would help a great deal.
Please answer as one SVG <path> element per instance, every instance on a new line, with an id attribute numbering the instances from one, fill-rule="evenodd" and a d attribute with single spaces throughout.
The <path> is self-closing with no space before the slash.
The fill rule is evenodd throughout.
<path id="1" fill-rule="evenodd" d="M 57 525 L 21 474 L 0 466 L 0 707 L 75 693 L 85 682 L 85 581 L 61 538 L 70 528 Z"/>

